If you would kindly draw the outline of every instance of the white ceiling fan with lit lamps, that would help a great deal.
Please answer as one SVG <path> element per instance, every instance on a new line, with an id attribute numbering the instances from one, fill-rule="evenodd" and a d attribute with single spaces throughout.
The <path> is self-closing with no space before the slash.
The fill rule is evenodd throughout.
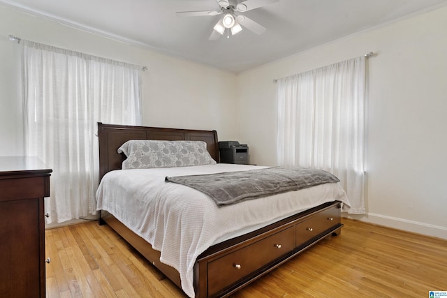
<path id="1" fill-rule="evenodd" d="M 266 6 L 278 1 L 279 0 L 217 0 L 220 10 L 179 11 L 176 14 L 182 17 L 202 17 L 223 14 L 223 17 L 219 22 L 214 25 L 214 30 L 212 31 L 210 38 L 208 38 L 209 40 L 217 40 L 226 30 L 227 38 L 230 38 L 230 31 L 232 35 L 242 31 L 241 25 L 256 34 L 261 35 L 267 29 L 240 13 L 254 10 L 255 8 L 260 8 L 261 6 Z"/>

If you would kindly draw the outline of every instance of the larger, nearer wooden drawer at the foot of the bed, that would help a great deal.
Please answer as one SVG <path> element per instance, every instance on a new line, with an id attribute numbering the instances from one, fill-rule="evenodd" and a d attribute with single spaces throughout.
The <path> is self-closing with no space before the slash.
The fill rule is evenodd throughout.
<path id="1" fill-rule="evenodd" d="M 210 262 L 208 296 L 291 252 L 294 247 L 295 229 L 291 227 Z"/>

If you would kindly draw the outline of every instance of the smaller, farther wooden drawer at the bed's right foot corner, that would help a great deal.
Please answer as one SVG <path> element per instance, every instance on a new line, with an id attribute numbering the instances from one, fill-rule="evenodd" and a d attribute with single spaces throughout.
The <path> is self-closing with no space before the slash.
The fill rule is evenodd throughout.
<path id="1" fill-rule="evenodd" d="M 333 206 L 329 209 L 325 209 L 317 214 L 314 214 L 305 221 L 302 221 L 302 223 L 298 223 L 295 226 L 296 245 L 300 246 L 325 230 L 333 228 L 340 222 L 339 206 Z"/>

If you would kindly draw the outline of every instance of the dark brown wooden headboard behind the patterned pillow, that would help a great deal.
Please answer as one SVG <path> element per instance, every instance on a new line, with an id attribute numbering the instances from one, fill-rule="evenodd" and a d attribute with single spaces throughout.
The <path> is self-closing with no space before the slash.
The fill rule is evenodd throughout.
<path id="1" fill-rule="evenodd" d="M 129 140 L 191 140 L 204 141 L 214 161 L 219 163 L 219 144 L 216 131 L 196 131 L 181 128 L 127 126 L 98 122 L 99 180 L 105 173 L 121 169 L 124 154 L 117 149 Z"/>

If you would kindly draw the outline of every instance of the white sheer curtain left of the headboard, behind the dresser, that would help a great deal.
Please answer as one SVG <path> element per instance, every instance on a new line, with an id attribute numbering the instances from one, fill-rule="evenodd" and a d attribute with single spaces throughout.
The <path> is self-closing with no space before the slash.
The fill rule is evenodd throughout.
<path id="1" fill-rule="evenodd" d="M 137 66 L 23 40 L 25 152 L 53 170 L 47 223 L 96 214 L 97 122 L 139 125 Z"/>

